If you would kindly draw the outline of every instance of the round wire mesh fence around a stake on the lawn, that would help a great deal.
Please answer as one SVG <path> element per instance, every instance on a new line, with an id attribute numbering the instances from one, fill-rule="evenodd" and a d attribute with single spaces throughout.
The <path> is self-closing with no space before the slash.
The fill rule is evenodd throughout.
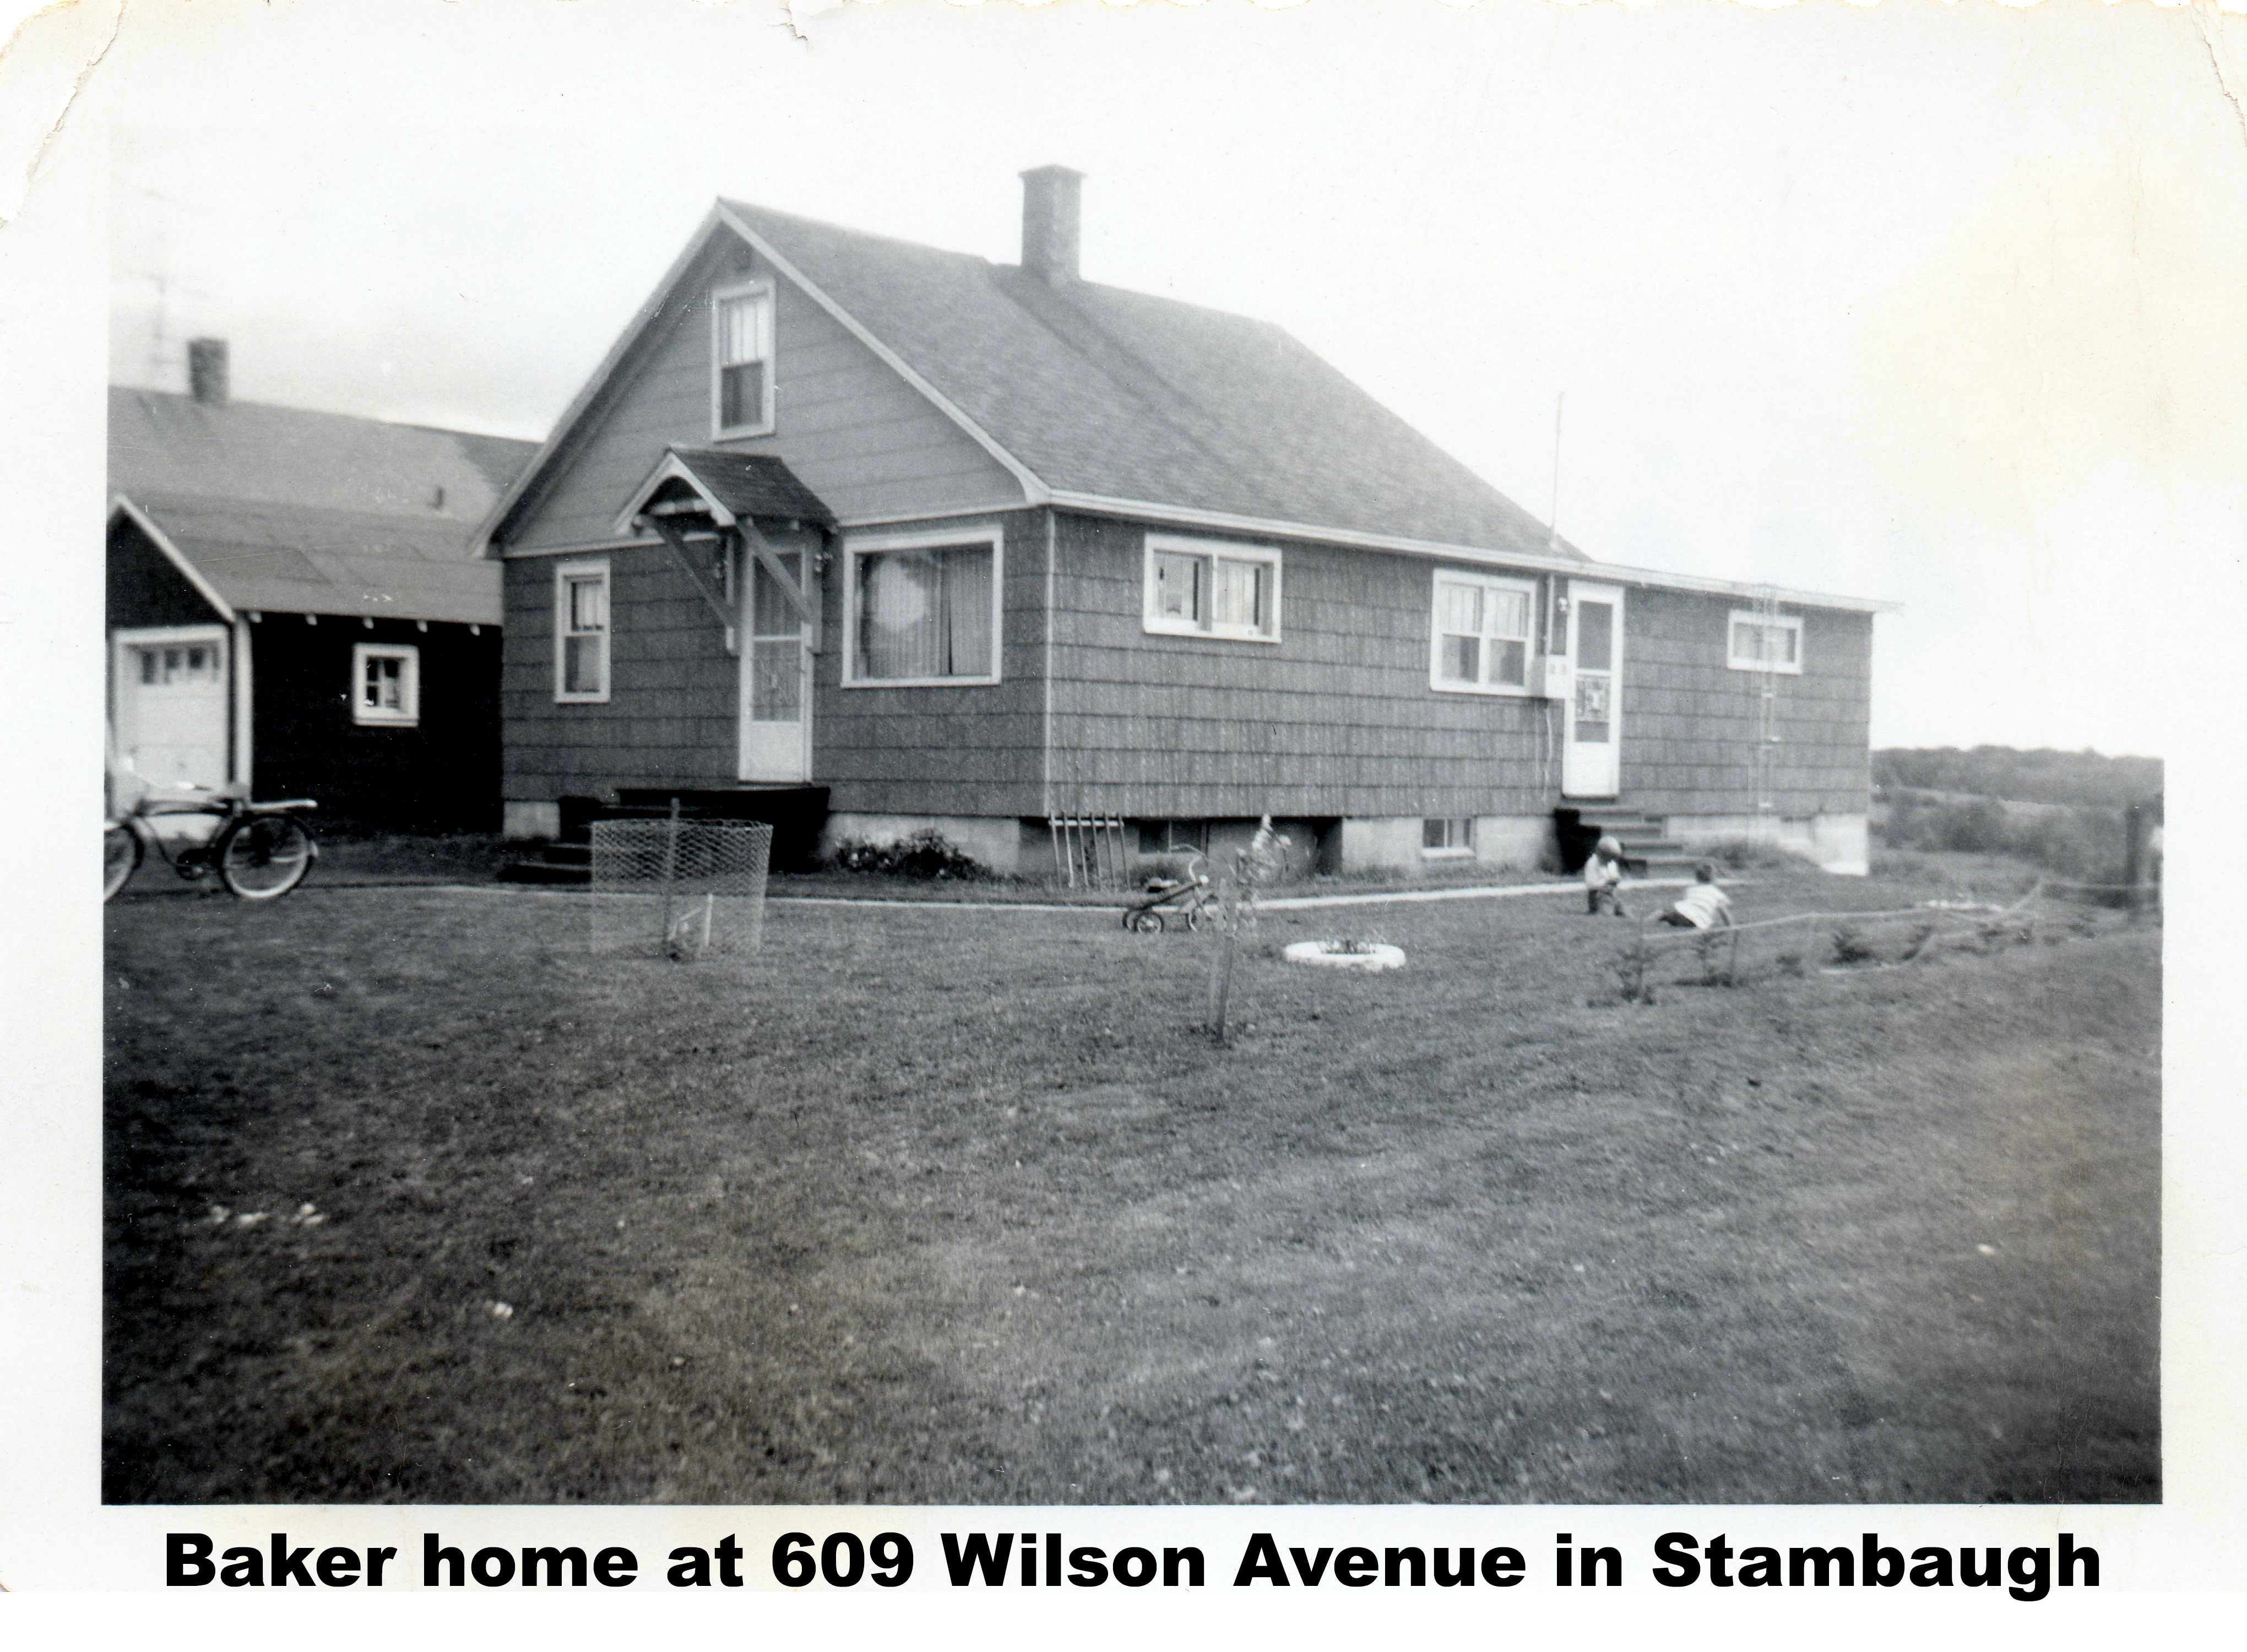
<path id="1" fill-rule="evenodd" d="M 764 937 L 773 827 L 712 820 L 595 820 L 595 953 L 730 957 Z"/>

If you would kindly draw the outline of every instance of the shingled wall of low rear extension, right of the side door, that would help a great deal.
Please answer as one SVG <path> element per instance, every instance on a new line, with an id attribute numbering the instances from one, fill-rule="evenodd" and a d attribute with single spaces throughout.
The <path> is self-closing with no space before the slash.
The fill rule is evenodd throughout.
<path id="1" fill-rule="evenodd" d="M 1631 809 L 1755 814 L 1762 674 L 1726 668 L 1746 598 L 1631 589 L 1622 645 L 1622 796 Z M 1802 674 L 1775 674 L 1775 814 L 1870 807 L 1872 616 L 1782 607 L 1802 618 Z"/>

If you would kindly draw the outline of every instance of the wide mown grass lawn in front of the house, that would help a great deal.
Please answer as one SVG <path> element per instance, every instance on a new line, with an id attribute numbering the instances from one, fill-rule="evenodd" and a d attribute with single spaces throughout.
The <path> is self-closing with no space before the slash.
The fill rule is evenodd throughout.
<path id="1" fill-rule="evenodd" d="M 2159 1497 L 2153 924 L 1638 1005 L 1575 895 L 1270 913 L 1220 1050 L 1099 913 L 106 922 L 110 1501 Z"/>

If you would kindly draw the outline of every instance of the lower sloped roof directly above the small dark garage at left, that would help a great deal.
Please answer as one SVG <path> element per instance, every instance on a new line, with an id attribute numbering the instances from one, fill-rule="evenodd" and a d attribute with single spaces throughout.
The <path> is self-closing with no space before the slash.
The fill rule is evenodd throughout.
<path id="1" fill-rule="evenodd" d="M 499 569 L 456 521 L 180 494 L 119 494 L 220 609 L 499 625 Z"/>

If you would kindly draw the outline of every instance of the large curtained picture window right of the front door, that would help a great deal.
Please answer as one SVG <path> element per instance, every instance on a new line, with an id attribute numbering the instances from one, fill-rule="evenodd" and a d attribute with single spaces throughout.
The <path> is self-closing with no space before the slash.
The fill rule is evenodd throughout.
<path id="1" fill-rule="evenodd" d="M 845 686 L 995 683 L 1000 530 L 867 535 L 845 546 Z"/>

